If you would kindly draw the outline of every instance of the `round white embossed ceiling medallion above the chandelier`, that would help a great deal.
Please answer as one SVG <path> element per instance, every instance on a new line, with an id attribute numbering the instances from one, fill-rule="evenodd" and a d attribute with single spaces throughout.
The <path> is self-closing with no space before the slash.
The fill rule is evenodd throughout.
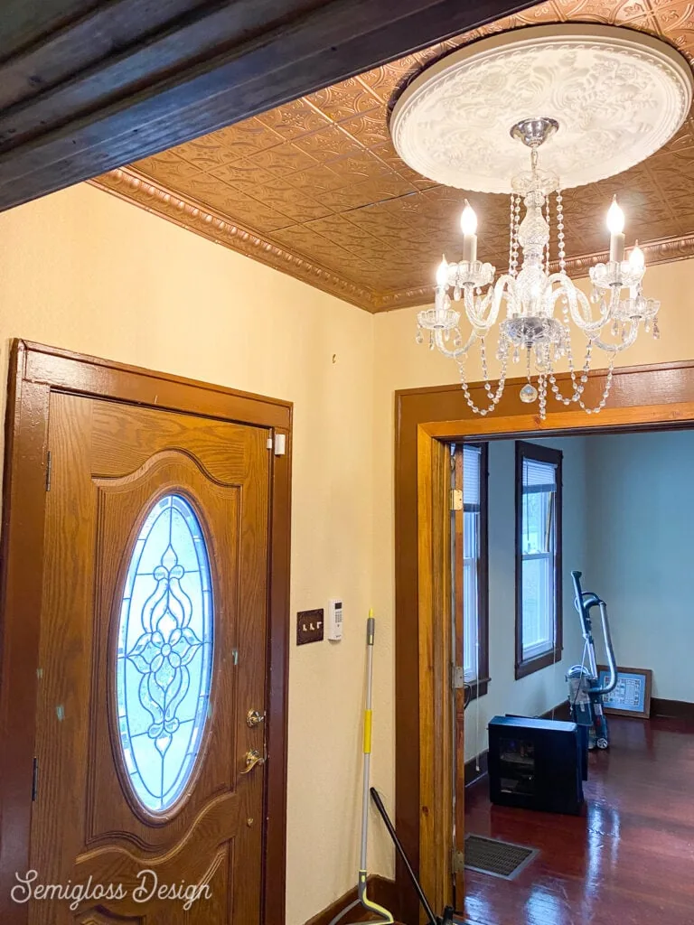
<path id="1" fill-rule="evenodd" d="M 668 142 L 688 115 L 687 60 L 642 32 L 562 24 L 504 32 L 423 71 L 393 110 L 398 154 L 445 186 L 511 192 L 527 151 L 510 129 L 556 119 L 546 166 L 568 189 L 612 177 Z"/>

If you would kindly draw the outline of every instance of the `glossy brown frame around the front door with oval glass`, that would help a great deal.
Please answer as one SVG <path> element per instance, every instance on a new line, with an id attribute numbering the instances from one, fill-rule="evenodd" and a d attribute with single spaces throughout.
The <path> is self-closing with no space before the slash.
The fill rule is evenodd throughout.
<path id="1" fill-rule="evenodd" d="M 270 456 L 268 536 L 264 925 L 283 925 L 287 853 L 287 685 L 289 677 L 291 416 L 289 401 L 111 363 L 16 339 L 6 411 L 0 599 L 0 919 L 26 920 L 10 901 L 15 871 L 29 868 L 36 659 L 42 604 L 48 411 L 52 391 L 119 401 L 284 435 Z M 16 619 L 20 612 L 22 619 Z M 7 619 L 9 614 L 15 619 Z"/>

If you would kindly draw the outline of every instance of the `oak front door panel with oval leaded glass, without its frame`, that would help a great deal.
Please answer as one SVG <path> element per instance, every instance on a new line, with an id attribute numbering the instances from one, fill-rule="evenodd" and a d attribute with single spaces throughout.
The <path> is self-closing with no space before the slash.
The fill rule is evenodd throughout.
<path id="1" fill-rule="evenodd" d="M 51 394 L 30 923 L 261 920 L 268 433 Z"/>

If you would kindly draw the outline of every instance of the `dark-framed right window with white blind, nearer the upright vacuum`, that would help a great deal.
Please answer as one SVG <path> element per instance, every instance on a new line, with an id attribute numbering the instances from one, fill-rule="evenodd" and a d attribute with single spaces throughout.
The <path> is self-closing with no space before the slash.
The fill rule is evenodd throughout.
<path id="1" fill-rule="evenodd" d="M 551 664 L 561 650 L 562 454 L 527 443 L 516 454 L 517 673 Z"/>

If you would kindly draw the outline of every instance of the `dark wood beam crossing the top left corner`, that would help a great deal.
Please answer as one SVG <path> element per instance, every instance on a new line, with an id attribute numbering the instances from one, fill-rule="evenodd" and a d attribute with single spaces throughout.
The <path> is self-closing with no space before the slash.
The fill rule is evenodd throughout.
<path id="1" fill-rule="evenodd" d="M 9 0 L 0 23 L 0 209 L 527 6 Z"/>

